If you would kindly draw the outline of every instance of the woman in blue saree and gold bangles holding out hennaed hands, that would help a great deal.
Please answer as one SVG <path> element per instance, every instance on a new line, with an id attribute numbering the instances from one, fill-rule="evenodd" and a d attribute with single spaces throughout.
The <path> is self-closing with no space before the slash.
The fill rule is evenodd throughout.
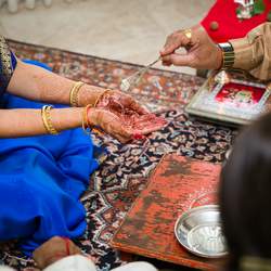
<path id="1" fill-rule="evenodd" d="M 132 137 L 117 115 L 94 107 L 104 91 L 20 61 L 0 36 L 0 242 L 17 240 L 31 256 L 53 236 L 83 233 L 79 197 L 99 163 L 79 127 L 99 126 L 120 142 Z M 108 93 L 145 113 L 131 96 Z"/>

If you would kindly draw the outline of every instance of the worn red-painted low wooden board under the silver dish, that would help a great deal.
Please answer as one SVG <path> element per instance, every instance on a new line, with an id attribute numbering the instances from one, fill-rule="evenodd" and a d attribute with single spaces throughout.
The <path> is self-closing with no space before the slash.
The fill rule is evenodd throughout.
<path id="1" fill-rule="evenodd" d="M 220 165 L 189 157 L 164 156 L 111 245 L 126 253 L 217 270 L 221 260 L 194 256 L 178 243 L 175 223 L 192 207 L 217 203 L 220 169 Z"/>

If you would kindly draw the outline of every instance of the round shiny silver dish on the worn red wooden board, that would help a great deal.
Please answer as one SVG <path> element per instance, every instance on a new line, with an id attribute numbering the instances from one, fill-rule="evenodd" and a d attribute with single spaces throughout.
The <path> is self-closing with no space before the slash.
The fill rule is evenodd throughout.
<path id="1" fill-rule="evenodd" d="M 205 205 L 184 212 L 175 224 L 175 234 L 182 246 L 197 256 L 219 258 L 227 255 L 217 205 Z"/>

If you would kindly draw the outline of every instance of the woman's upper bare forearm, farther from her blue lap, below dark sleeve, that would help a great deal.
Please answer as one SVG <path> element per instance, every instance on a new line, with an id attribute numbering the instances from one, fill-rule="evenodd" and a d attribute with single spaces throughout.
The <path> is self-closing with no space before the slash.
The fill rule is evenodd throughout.
<path id="1" fill-rule="evenodd" d="M 75 81 L 44 68 L 18 60 L 8 86 L 8 92 L 34 101 L 69 104 L 69 93 Z M 94 104 L 102 88 L 83 85 L 78 93 L 78 104 Z"/>

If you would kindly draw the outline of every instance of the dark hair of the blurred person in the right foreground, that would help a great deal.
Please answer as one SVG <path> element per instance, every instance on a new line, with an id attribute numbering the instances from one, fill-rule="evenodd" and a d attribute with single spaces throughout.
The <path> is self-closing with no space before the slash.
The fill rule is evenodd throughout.
<path id="1" fill-rule="evenodd" d="M 271 114 L 236 139 L 221 172 L 220 207 L 229 269 L 243 256 L 271 258 Z"/>

